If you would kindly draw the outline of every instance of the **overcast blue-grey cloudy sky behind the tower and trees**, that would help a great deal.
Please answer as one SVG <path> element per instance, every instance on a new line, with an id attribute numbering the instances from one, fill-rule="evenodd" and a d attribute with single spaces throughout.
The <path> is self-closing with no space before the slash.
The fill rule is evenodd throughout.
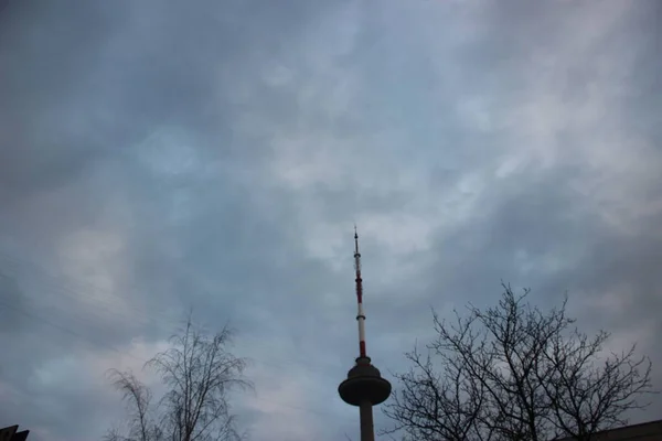
<path id="1" fill-rule="evenodd" d="M 504 280 L 662 386 L 660 1 L 4 2 L 0 426 L 99 439 L 193 308 L 252 439 L 357 439 L 354 222 L 386 378 Z"/>

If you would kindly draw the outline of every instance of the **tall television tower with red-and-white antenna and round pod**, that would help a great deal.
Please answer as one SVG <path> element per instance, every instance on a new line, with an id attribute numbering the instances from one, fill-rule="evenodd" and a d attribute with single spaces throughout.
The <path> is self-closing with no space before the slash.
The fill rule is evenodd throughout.
<path id="1" fill-rule="evenodd" d="M 361 421 L 361 441 L 374 441 L 372 407 L 384 402 L 391 395 L 391 383 L 382 378 L 380 369 L 374 367 L 365 352 L 365 313 L 363 312 L 363 279 L 361 279 L 361 254 L 359 234 L 354 225 L 354 268 L 356 271 L 356 301 L 359 303 L 359 358 L 348 373 L 348 379 L 338 387 L 340 398 L 349 405 L 359 407 Z"/>

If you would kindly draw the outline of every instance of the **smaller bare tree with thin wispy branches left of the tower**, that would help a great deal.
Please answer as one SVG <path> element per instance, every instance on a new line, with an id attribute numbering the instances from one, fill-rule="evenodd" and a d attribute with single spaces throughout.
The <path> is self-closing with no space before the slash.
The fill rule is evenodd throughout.
<path id="1" fill-rule="evenodd" d="M 247 361 L 227 351 L 233 332 L 214 335 L 195 329 L 191 319 L 171 337 L 171 346 L 147 362 L 167 391 L 151 409 L 151 391 L 130 372 L 110 370 L 114 386 L 129 404 L 128 437 L 113 430 L 109 441 L 229 441 L 236 432 L 228 392 L 252 388 L 244 379 Z"/>

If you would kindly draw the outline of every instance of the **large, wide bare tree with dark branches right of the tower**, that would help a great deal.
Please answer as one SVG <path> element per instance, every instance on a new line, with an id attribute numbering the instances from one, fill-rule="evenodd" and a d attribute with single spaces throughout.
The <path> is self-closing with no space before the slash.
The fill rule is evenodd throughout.
<path id="1" fill-rule="evenodd" d="M 385 413 L 409 440 L 588 441 L 627 423 L 651 388 L 651 363 L 636 347 L 604 356 L 606 332 L 588 337 L 566 316 L 566 301 L 543 312 L 509 286 L 496 306 L 456 312 L 448 324 L 433 311 L 437 338 L 412 367 Z M 431 356 L 439 358 L 433 363 Z"/>

